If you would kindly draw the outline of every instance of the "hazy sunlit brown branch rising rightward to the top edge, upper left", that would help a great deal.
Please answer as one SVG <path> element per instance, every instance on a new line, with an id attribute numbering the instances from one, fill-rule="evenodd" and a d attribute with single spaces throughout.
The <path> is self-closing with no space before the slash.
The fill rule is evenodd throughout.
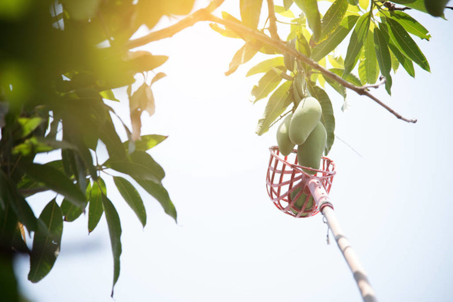
<path id="1" fill-rule="evenodd" d="M 148 44 L 153 41 L 161 40 L 164 38 L 170 38 L 174 34 L 179 33 L 181 30 L 186 29 L 198 21 L 206 21 L 203 17 L 212 13 L 217 7 L 219 7 L 224 0 L 213 0 L 209 5 L 201 10 L 195 11 L 193 14 L 189 14 L 187 17 L 182 19 L 176 24 L 173 24 L 167 28 L 160 29 L 154 32 L 151 32 L 143 37 L 130 40 L 125 44 L 126 49 L 131 49 L 139 47 L 145 44 Z"/>

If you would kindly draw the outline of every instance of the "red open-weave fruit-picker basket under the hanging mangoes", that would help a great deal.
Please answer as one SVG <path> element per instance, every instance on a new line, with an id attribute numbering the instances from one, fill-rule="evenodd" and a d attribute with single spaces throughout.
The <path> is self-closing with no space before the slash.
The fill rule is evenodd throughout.
<path id="1" fill-rule="evenodd" d="M 323 184 L 327 192 L 332 187 L 335 175 L 335 164 L 329 158 L 323 157 L 322 170 L 316 170 L 298 165 L 296 150 L 288 156 L 280 154 L 279 147 L 269 148 L 270 160 L 267 169 L 266 188 L 270 199 L 275 206 L 285 214 L 297 218 L 310 217 L 319 212 L 313 201 L 307 183 L 310 178 L 316 177 Z M 307 173 L 307 171 L 309 173 Z M 305 195 L 302 195 L 302 194 Z M 303 198 L 305 197 L 305 200 Z M 299 198 L 302 197 L 302 203 Z M 299 203 L 296 206 L 296 203 Z"/>

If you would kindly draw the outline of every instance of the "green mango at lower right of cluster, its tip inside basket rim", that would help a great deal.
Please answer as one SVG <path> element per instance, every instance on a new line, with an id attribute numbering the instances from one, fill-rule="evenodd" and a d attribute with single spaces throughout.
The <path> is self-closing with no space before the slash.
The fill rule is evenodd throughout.
<path id="1" fill-rule="evenodd" d="M 291 128 L 290 128 L 291 129 Z M 327 132 L 323 123 L 318 121 L 318 124 L 313 131 L 308 135 L 304 144 L 297 147 L 297 161 L 299 166 L 319 169 L 321 157 L 323 156 L 324 148 L 327 142 Z M 309 174 L 316 172 L 304 169 Z"/>

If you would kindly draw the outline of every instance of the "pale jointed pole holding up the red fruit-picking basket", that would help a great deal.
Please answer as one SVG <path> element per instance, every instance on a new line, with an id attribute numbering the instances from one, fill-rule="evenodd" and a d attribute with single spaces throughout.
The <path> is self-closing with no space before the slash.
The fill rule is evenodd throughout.
<path id="1" fill-rule="evenodd" d="M 323 184 L 318 178 L 312 177 L 308 181 L 308 188 L 313 195 L 313 199 L 316 201 L 319 211 L 326 217 L 329 228 L 332 230 L 335 241 L 337 241 L 338 248 L 341 250 L 347 265 L 351 268 L 352 275 L 356 280 L 363 301 L 377 302 L 373 288 L 371 288 L 368 278 L 366 277 L 365 270 L 363 269 L 357 254 L 352 249 L 349 240 L 347 240 L 338 224 L 337 217 L 333 211 L 333 206 L 330 203 L 328 193 L 324 189 Z"/>

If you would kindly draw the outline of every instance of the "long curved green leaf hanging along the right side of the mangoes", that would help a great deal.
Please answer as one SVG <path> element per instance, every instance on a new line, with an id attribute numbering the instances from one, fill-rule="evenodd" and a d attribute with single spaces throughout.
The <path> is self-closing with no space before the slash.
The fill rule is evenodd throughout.
<path id="1" fill-rule="evenodd" d="M 321 122 L 327 131 L 327 144 L 324 149 L 324 154 L 327 155 L 332 148 L 333 140 L 335 139 L 335 117 L 333 116 L 332 102 L 329 99 L 326 91 L 318 86 L 314 86 L 313 83 L 308 82 L 308 91 L 310 94 L 319 101 L 323 114 L 321 115 Z"/>

